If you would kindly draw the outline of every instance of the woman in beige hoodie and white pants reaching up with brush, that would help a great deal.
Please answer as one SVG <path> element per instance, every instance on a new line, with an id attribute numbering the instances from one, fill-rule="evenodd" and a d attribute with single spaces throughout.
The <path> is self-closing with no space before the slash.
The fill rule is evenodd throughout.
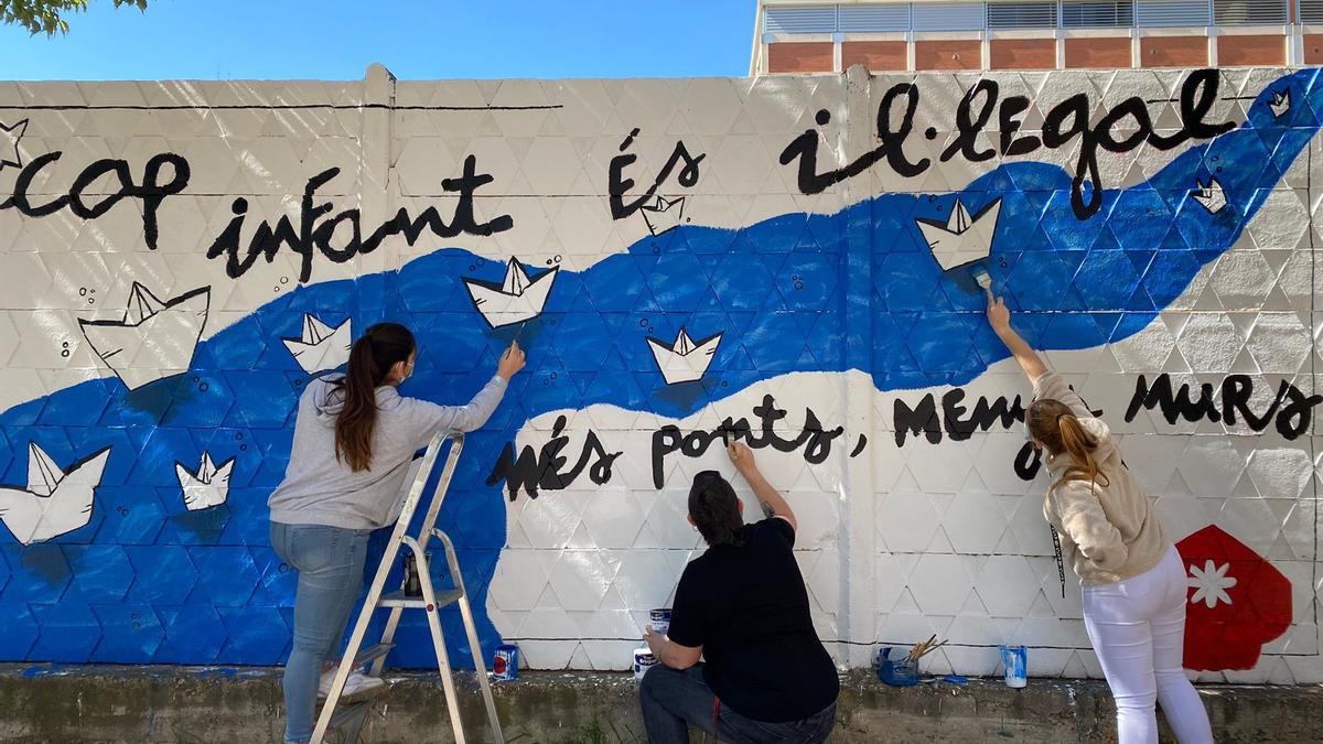
<path id="1" fill-rule="evenodd" d="M 1158 741 L 1158 702 L 1181 744 L 1212 743 L 1208 712 L 1181 669 L 1187 584 L 1176 547 L 1111 430 L 1011 328 L 1011 312 L 991 291 L 988 322 L 1033 384 L 1024 422 L 1033 446 L 1046 450 L 1043 514 L 1080 577 L 1121 744 Z"/>

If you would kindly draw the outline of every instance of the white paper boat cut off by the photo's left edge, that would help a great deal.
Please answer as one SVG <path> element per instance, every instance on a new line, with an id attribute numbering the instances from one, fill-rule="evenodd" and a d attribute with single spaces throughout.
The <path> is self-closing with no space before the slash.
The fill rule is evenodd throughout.
<path id="1" fill-rule="evenodd" d="M 28 487 L 0 486 L 0 522 L 24 545 L 86 526 L 107 459 L 110 447 L 75 462 L 66 473 L 36 442 L 29 442 Z"/>

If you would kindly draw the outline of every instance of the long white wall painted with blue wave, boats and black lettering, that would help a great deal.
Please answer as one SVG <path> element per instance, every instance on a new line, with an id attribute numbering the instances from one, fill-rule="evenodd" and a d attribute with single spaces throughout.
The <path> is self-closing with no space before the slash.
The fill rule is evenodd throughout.
<path id="1" fill-rule="evenodd" d="M 487 653 L 627 667 L 734 434 L 841 665 L 1098 676 L 984 269 L 1180 540 L 1187 666 L 1320 682 L 1320 114 L 1318 70 L 0 83 L 0 661 L 282 662 L 295 402 L 393 319 L 413 396 L 529 352 L 442 514 Z"/>

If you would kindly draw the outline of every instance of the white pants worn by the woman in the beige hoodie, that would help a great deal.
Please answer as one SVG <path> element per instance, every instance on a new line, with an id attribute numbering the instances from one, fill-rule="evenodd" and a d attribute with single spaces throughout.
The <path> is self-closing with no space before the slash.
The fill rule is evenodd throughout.
<path id="1" fill-rule="evenodd" d="M 1185 678 L 1185 567 L 1171 548 L 1152 569 L 1084 588 L 1084 625 L 1117 700 L 1121 744 L 1156 744 L 1160 702 L 1181 744 L 1212 744 L 1208 711 Z"/>

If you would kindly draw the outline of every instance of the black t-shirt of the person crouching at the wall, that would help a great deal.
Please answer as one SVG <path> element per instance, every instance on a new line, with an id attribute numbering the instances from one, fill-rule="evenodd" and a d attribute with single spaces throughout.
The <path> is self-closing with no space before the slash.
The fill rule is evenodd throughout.
<path id="1" fill-rule="evenodd" d="M 675 592 L 671 641 L 703 646 L 708 686 L 737 714 L 802 720 L 836 700 L 836 666 L 818 639 L 808 592 L 781 518 L 746 524 L 745 544 L 689 561 Z"/>

